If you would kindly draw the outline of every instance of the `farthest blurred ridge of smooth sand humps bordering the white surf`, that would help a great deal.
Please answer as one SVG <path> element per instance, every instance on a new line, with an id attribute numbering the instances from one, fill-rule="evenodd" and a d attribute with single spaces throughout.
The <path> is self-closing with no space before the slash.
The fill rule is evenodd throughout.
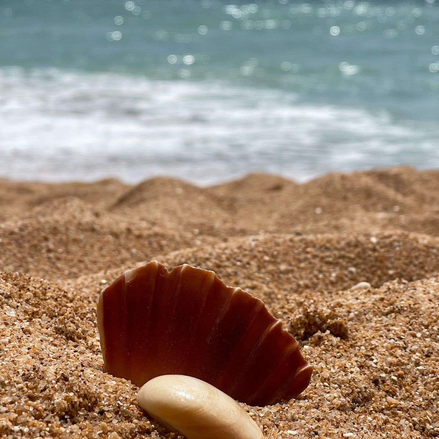
<path id="1" fill-rule="evenodd" d="M 437 171 L 410 167 L 332 173 L 306 184 L 269 174 L 200 188 L 156 177 L 129 187 L 117 180 L 85 184 L 0 182 L 0 220 L 69 196 L 98 210 L 172 230 L 226 238 L 271 233 L 402 229 L 438 234 Z M 419 219 L 419 216 L 428 218 Z M 102 217 L 102 216 L 101 216 Z M 421 224 L 421 225 L 419 225 Z"/>

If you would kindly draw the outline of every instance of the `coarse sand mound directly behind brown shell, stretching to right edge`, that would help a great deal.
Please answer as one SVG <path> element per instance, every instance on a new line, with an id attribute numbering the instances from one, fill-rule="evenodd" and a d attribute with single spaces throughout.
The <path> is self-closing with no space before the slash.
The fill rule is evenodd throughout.
<path id="1" fill-rule="evenodd" d="M 296 294 L 312 298 L 316 291 L 346 289 L 360 281 L 378 287 L 396 278 L 413 281 L 439 274 L 439 241 L 407 233 L 355 237 L 267 234 L 159 258 L 168 268 L 189 263 L 214 270 L 227 284 L 263 296 L 270 306 Z M 111 273 L 112 277 L 118 274 L 116 270 Z"/>

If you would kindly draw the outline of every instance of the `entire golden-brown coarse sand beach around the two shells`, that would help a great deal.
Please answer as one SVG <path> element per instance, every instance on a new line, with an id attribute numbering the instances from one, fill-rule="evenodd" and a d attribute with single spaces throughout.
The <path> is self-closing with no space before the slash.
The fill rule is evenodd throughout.
<path id="1" fill-rule="evenodd" d="M 298 338 L 309 387 L 242 404 L 266 438 L 439 436 L 439 171 L 399 167 L 204 188 L 0 180 L 1 437 L 177 438 L 103 373 L 99 291 L 151 259 L 215 270 Z"/>

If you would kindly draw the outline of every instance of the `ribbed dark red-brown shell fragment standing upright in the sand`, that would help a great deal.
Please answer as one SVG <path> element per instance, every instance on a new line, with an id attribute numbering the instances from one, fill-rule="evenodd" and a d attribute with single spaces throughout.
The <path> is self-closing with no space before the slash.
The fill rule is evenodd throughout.
<path id="1" fill-rule="evenodd" d="M 199 378 L 241 402 L 299 395 L 312 367 L 263 302 L 187 264 L 152 261 L 101 291 L 104 371 L 137 386 L 160 375 Z"/>

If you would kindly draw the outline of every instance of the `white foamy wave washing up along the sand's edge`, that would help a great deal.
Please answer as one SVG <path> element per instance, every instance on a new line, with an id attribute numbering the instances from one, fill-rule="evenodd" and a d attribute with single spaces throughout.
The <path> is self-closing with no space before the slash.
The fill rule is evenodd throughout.
<path id="1" fill-rule="evenodd" d="M 209 184 L 252 170 L 439 166 L 438 124 L 303 102 L 281 90 L 54 68 L 0 68 L 1 174 Z"/>

